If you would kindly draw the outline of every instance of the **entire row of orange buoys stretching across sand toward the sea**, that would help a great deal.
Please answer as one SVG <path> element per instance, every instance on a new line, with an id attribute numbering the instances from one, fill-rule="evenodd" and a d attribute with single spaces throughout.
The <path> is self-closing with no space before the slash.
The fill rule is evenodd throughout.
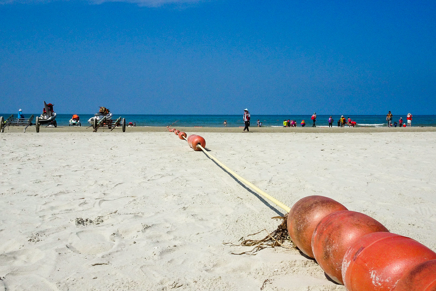
<path id="1" fill-rule="evenodd" d="M 167 128 L 196 151 L 206 146 L 199 135 Z M 331 198 L 300 199 L 289 210 L 287 227 L 298 249 L 348 291 L 436 291 L 434 251 Z"/>

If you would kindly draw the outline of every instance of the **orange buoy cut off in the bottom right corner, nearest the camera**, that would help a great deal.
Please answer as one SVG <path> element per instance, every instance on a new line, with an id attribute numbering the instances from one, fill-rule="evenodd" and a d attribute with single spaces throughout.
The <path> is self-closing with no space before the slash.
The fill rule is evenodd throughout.
<path id="1" fill-rule="evenodd" d="M 406 272 L 394 291 L 436 291 L 436 259 L 420 263 Z"/>

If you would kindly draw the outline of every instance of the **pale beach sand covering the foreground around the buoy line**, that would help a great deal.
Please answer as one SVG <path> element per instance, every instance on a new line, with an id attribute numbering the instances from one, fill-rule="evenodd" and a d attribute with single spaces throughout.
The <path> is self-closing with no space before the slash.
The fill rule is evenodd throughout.
<path id="1" fill-rule="evenodd" d="M 173 133 L 29 129 L 0 134 L 0 291 L 345 291 L 296 249 L 233 255 L 284 211 Z M 202 129 L 286 205 L 325 195 L 436 251 L 436 132 Z"/>

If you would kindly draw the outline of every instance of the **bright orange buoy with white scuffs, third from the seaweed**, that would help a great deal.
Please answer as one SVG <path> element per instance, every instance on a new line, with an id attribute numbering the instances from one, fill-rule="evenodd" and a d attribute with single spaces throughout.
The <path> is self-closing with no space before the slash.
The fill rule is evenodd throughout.
<path id="1" fill-rule="evenodd" d="M 374 232 L 351 245 L 342 262 L 348 291 L 392 291 L 403 274 L 436 259 L 425 245 L 398 234 Z"/>

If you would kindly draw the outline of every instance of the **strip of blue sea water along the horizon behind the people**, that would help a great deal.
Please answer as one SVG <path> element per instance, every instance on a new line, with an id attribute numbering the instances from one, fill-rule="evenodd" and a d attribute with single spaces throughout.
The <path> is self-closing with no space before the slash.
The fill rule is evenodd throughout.
<path id="1" fill-rule="evenodd" d="M 12 113 L 0 113 L 5 119 Z M 39 116 L 40 114 L 33 114 Z M 89 126 L 88 119 L 93 117 L 93 114 L 78 114 L 82 126 Z M 16 117 L 16 113 L 14 113 Z M 31 114 L 25 113 L 25 117 Z M 58 114 L 56 121 L 58 126 L 68 126 L 72 114 Z M 136 123 L 136 126 L 167 126 L 175 122 L 174 126 L 183 127 L 222 127 L 224 120 L 227 120 L 228 127 L 243 127 L 242 114 L 239 115 L 143 115 L 143 114 L 115 114 L 113 118 L 124 117 L 126 122 Z M 350 117 L 353 121 L 357 122 L 357 127 L 386 127 L 386 115 L 344 115 L 345 118 Z M 329 115 L 317 115 L 316 126 L 328 126 Z M 332 115 L 334 122 L 333 126 L 337 126 L 337 121 L 341 115 Z M 394 121 L 403 117 L 405 123 L 406 114 L 394 115 Z M 260 120 L 263 127 L 281 127 L 283 126 L 283 119 L 296 120 L 297 127 L 301 127 L 301 120 L 306 121 L 306 126 L 311 127 L 311 115 L 256 115 L 251 114 L 251 126 L 256 126 L 257 120 Z M 34 120 L 34 119 L 33 119 Z M 436 127 L 436 115 L 413 115 L 412 126 L 414 127 Z"/>

